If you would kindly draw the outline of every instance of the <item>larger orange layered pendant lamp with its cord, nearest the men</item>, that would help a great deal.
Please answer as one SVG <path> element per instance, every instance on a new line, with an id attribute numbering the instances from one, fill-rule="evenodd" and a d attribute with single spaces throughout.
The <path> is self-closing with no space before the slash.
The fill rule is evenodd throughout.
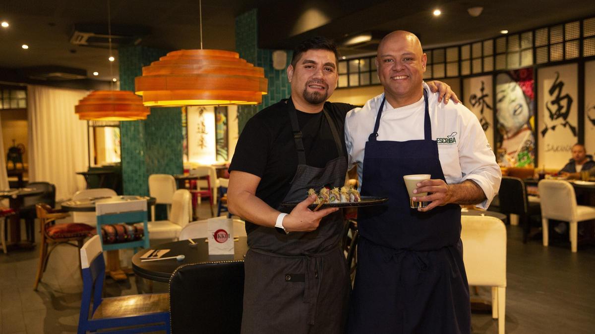
<path id="1" fill-rule="evenodd" d="M 239 53 L 202 49 L 202 1 L 199 1 L 201 49 L 167 53 L 143 67 L 136 94 L 145 106 L 256 105 L 267 94 L 264 68 Z"/>

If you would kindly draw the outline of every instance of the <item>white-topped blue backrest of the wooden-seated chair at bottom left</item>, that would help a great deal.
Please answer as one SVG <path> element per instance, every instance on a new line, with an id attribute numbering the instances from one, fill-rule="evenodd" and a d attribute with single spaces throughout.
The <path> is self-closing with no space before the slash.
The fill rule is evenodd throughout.
<path id="1" fill-rule="evenodd" d="M 91 300 L 93 300 L 92 313 L 95 313 L 101 304 L 104 287 L 105 260 L 100 235 L 93 236 L 80 248 L 80 266 L 83 276 L 83 295 L 79 319 L 87 320 Z"/>

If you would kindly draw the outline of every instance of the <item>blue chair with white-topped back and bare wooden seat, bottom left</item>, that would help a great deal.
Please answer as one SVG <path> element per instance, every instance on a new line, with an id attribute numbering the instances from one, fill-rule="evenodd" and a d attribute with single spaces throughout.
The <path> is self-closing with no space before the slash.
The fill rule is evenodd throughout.
<path id="1" fill-rule="evenodd" d="M 105 261 L 99 235 L 90 238 L 83 245 L 80 249 L 80 260 L 83 275 L 83 296 L 80 304 L 78 333 L 114 329 L 115 327 L 129 327 L 117 330 L 122 333 L 157 330 L 165 330 L 170 333 L 169 294 L 102 298 Z M 91 300 L 93 300 L 92 304 Z M 90 307 L 91 305 L 92 307 Z"/>

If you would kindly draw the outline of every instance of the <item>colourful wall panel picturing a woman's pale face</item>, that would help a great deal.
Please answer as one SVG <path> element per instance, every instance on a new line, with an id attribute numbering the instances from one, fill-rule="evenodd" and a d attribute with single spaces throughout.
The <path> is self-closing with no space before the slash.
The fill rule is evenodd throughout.
<path id="1" fill-rule="evenodd" d="M 496 157 L 501 166 L 534 165 L 533 70 L 496 75 Z"/>

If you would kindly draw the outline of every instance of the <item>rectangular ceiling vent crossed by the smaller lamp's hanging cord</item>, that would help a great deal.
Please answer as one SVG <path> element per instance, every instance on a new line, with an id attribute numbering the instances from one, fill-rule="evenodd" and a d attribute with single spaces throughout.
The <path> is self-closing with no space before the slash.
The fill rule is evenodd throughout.
<path id="1" fill-rule="evenodd" d="M 138 45 L 151 30 L 142 26 L 112 25 L 112 48 L 121 45 Z M 70 43 L 95 48 L 108 48 L 109 35 L 105 24 L 74 24 L 70 34 Z"/>

